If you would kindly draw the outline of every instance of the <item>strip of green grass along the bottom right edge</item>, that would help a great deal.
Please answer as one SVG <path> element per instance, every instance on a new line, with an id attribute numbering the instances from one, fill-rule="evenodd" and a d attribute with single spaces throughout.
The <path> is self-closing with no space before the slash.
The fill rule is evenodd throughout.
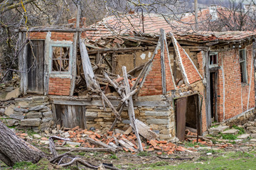
<path id="1" fill-rule="evenodd" d="M 256 157 L 252 153 L 255 153 L 255 151 L 228 153 L 223 152 L 220 157 L 203 155 L 199 157 L 196 161 L 193 160 L 175 165 L 172 165 L 174 164 L 174 162 L 156 162 L 154 164 L 127 165 L 129 166 L 128 169 L 256 169 Z"/>

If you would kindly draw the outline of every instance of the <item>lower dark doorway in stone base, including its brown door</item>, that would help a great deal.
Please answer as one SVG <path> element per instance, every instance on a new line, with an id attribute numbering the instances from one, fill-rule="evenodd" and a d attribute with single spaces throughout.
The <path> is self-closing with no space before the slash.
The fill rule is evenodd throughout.
<path id="1" fill-rule="evenodd" d="M 185 140 L 186 130 L 201 135 L 201 107 L 199 103 L 198 94 L 175 100 L 176 137 L 178 140 Z"/>

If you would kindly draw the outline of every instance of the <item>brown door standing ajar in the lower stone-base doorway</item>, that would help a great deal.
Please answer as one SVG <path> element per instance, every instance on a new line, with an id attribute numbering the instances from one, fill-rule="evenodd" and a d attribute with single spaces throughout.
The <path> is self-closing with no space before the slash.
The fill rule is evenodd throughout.
<path id="1" fill-rule="evenodd" d="M 181 142 L 185 139 L 187 98 L 176 101 L 176 136 Z"/>

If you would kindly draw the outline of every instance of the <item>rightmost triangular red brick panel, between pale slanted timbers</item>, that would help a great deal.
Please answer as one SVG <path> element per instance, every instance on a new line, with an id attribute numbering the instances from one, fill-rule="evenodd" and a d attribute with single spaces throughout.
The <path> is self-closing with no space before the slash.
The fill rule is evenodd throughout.
<path id="1" fill-rule="evenodd" d="M 181 55 L 181 60 L 183 67 L 185 69 L 186 75 L 188 77 L 188 81 L 190 84 L 193 84 L 194 82 L 201 80 L 201 77 L 199 76 L 198 72 L 196 71 L 196 68 L 193 66 L 193 63 L 191 60 L 188 59 L 186 53 L 182 49 L 181 45 L 178 45 L 178 51 Z"/>

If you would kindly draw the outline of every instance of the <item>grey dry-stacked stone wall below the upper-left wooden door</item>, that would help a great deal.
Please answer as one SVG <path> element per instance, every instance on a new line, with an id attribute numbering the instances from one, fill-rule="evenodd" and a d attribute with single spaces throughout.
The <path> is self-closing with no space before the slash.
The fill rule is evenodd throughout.
<path id="1" fill-rule="evenodd" d="M 53 113 L 47 96 L 16 98 L 13 113 L 6 120 L 7 125 L 18 126 L 18 129 L 40 132 L 53 125 Z"/>

